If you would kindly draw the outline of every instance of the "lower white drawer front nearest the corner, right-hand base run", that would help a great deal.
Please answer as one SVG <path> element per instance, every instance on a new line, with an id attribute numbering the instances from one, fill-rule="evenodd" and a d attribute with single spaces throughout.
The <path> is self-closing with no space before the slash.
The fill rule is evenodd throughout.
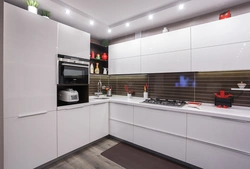
<path id="1" fill-rule="evenodd" d="M 133 143 L 133 126 L 126 123 L 110 120 L 110 135 Z"/>

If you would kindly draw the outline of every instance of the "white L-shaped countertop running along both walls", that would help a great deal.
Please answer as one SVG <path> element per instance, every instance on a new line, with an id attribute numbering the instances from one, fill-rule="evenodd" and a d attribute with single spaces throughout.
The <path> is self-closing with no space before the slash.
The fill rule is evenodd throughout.
<path id="1" fill-rule="evenodd" d="M 120 103 L 120 104 L 127 104 L 127 105 L 138 106 L 138 107 L 152 108 L 152 109 L 158 109 L 158 110 L 166 110 L 166 111 L 172 111 L 172 112 L 183 112 L 183 113 L 189 113 L 189 114 L 221 117 L 221 118 L 228 118 L 228 119 L 250 122 L 250 107 L 233 106 L 233 107 L 225 109 L 225 108 L 217 108 L 213 104 L 203 103 L 199 107 L 199 109 L 197 109 L 197 108 L 188 107 L 187 105 L 183 107 L 172 107 L 172 106 L 146 104 L 146 103 L 142 103 L 145 100 L 142 97 L 132 97 L 131 99 L 128 99 L 127 96 L 114 95 L 112 97 L 109 97 L 108 99 L 95 99 L 95 98 L 96 96 L 90 96 L 89 103 L 62 106 L 62 107 L 58 107 L 57 110 L 74 109 L 77 107 L 84 107 L 88 105 L 109 102 L 109 103 Z"/>

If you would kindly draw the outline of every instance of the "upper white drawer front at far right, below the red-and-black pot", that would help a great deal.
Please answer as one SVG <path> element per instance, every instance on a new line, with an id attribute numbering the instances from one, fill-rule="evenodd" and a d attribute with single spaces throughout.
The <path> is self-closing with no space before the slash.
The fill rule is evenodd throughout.
<path id="1" fill-rule="evenodd" d="M 250 153 L 250 123 L 188 115 L 187 137 Z"/>

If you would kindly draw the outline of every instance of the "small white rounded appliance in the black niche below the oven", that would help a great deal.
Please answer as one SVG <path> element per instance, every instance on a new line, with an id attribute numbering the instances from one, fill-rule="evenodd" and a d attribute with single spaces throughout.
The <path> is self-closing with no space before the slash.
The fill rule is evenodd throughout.
<path id="1" fill-rule="evenodd" d="M 67 103 L 74 103 L 79 101 L 79 95 L 76 90 L 66 89 L 59 92 L 59 100 Z"/>

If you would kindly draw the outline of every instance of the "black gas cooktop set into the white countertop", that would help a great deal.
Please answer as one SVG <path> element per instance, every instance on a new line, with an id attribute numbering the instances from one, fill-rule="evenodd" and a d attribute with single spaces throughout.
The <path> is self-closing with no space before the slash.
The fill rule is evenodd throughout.
<path id="1" fill-rule="evenodd" d="M 176 106 L 182 107 L 186 104 L 183 100 L 170 100 L 170 99 L 159 99 L 159 98 L 149 98 L 143 101 L 143 103 L 158 104 L 164 106 Z"/>

